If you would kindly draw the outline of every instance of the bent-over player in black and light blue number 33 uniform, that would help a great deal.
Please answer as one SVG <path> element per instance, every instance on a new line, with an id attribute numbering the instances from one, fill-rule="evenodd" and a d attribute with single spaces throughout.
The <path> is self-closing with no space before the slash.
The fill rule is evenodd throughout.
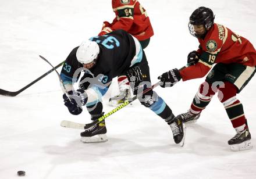
<path id="1" fill-rule="evenodd" d="M 81 74 L 79 90 L 74 90 Z M 150 69 L 140 42 L 124 30 L 112 31 L 107 35 L 91 37 L 70 52 L 62 67 L 61 78 L 67 94 L 63 95 L 69 112 L 77 115 L 86 106 L 91 120 L 102 116 L 102 99 L 112 78 L 125 73 L 134 95 L 151 87 Z M 69 100 L 71 99 L 71 100 Z M 176 144 L 183 145 L 186 127 L 177 119 L 165 101 L 154 91 L 138 98 L 142 105 L 162 117 L 172 129 Z M 95 124 L 81 133 L 82 142 L 105 142 L 105 121 Z"/>

